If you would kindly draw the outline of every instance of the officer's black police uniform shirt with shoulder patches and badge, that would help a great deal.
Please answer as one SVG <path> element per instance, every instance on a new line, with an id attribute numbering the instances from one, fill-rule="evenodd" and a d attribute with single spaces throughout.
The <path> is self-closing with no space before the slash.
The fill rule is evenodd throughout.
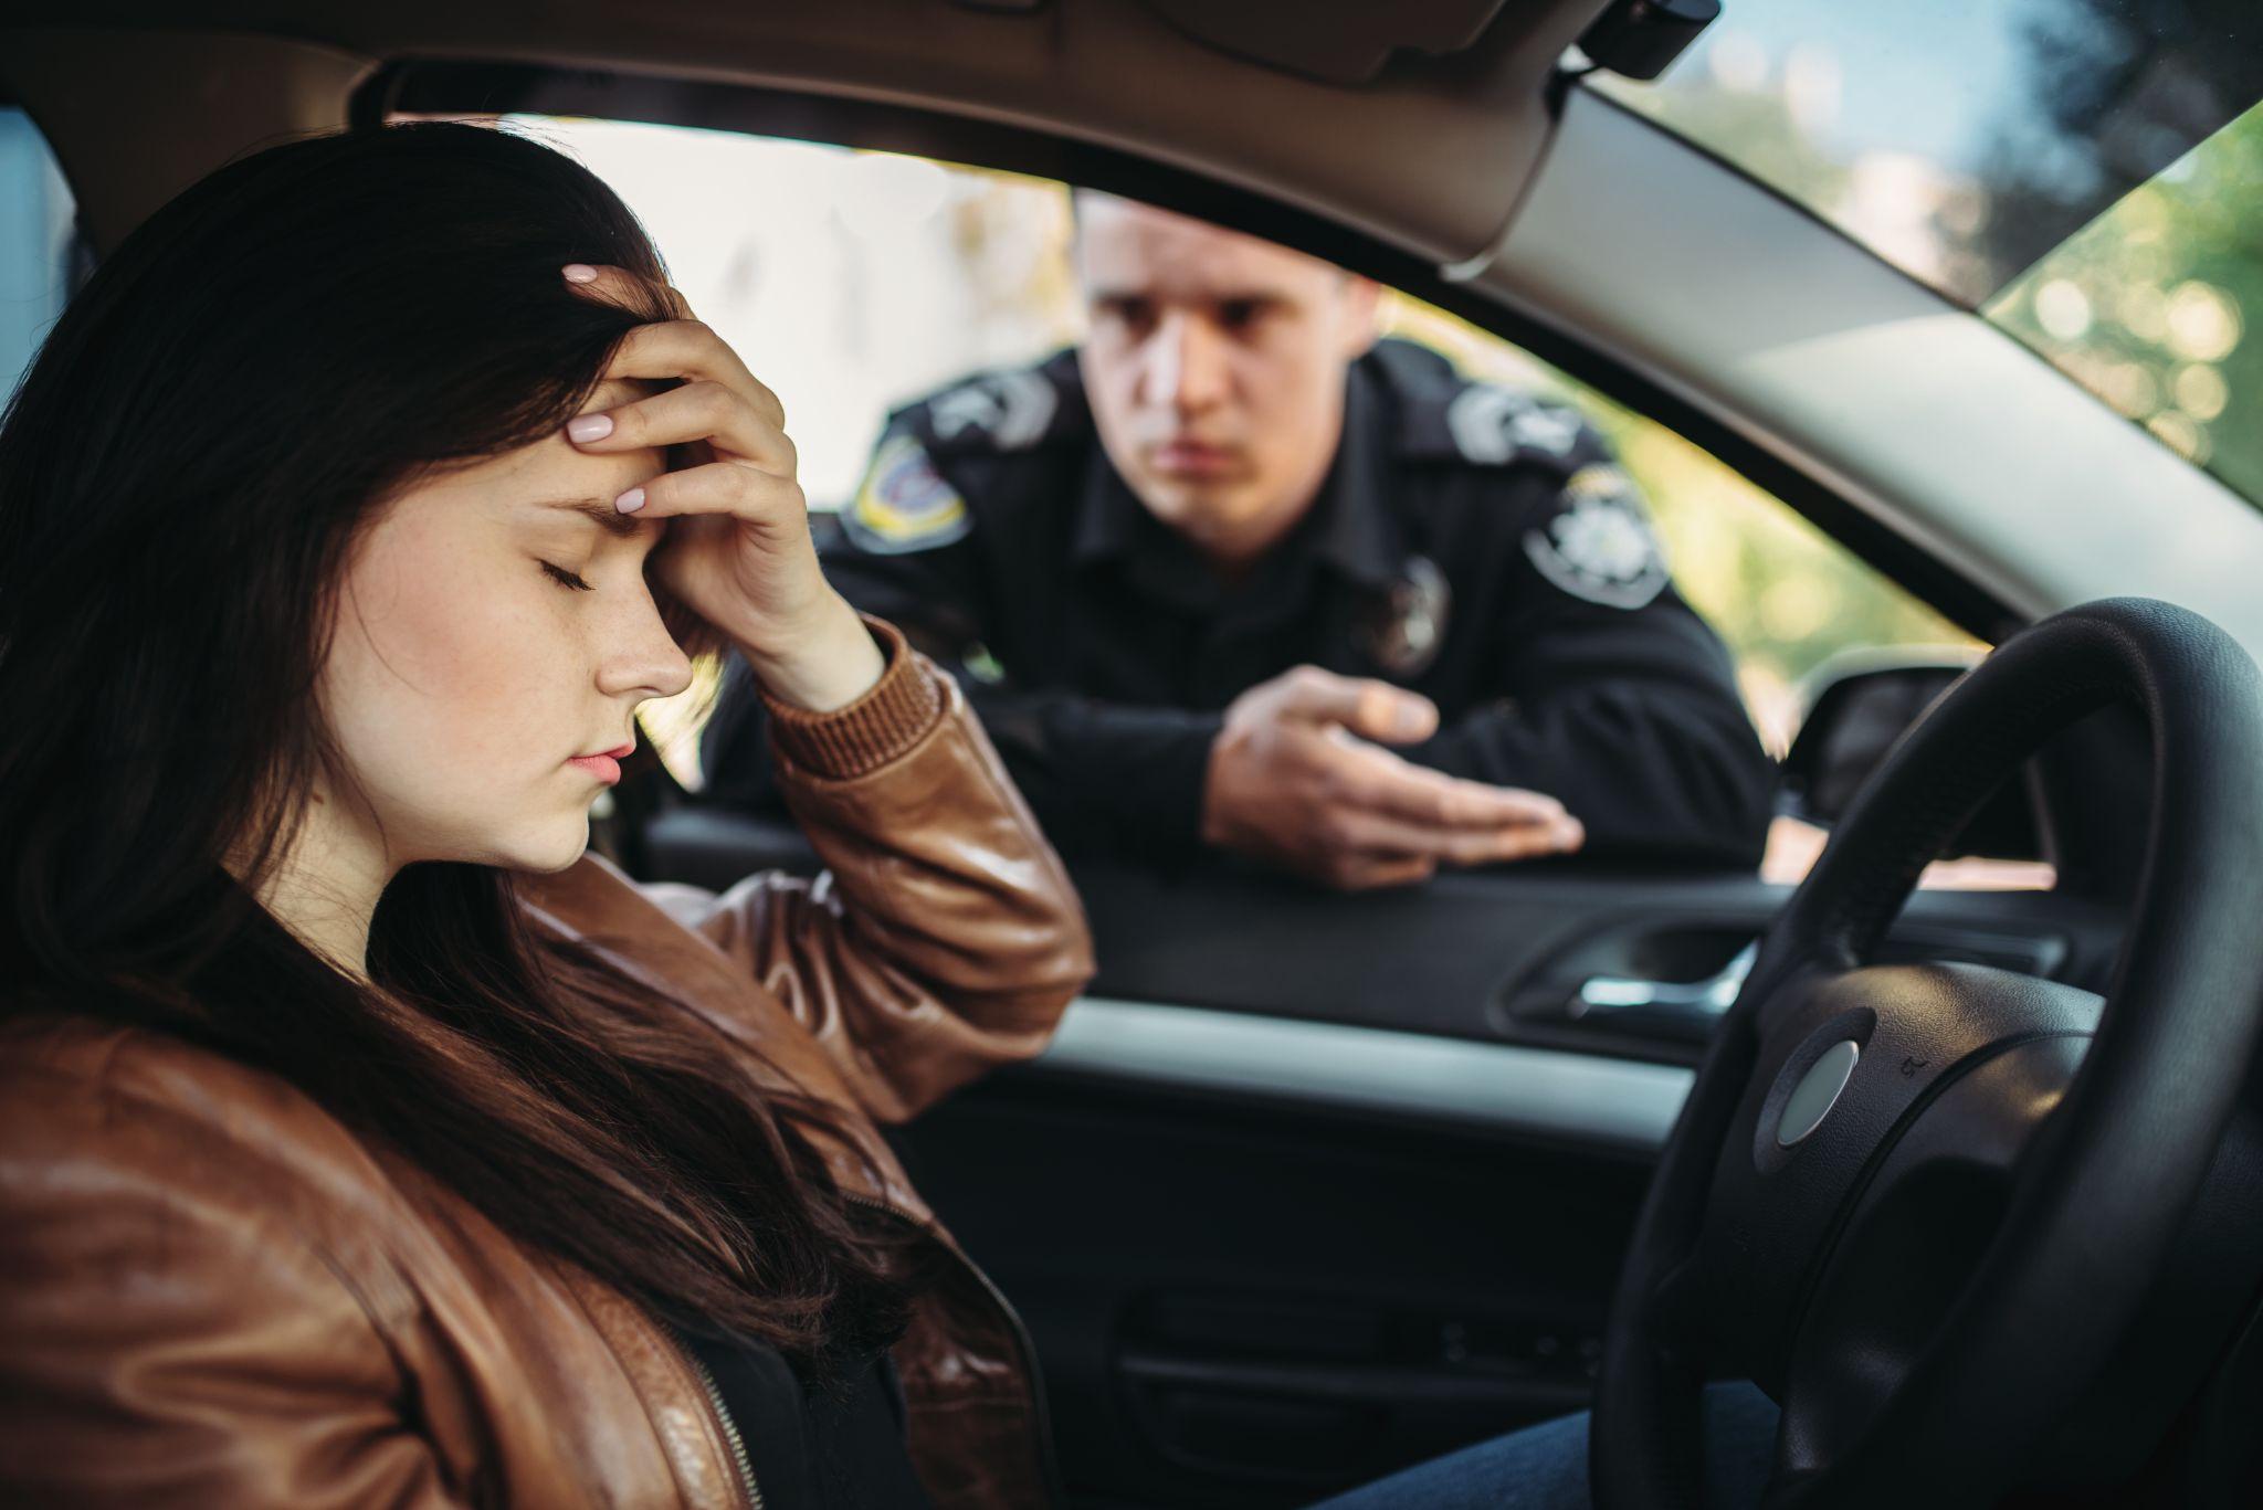
<path id="1" fill-rule="evenodd" d="M 1550 792 L 1591 856 L 1758 860 L 1774 765 L 1602 437 L 1423 346 L 1351 364 L 1319 498 L 1233 586 L 1109 464 L 1073 351 L 892 414 L 840 523 L 831 580 L 957 675 L 1064 851 L 1193 856 L 1220 711 L 1315 663 L 1430 697 L 1399 754 Z M 702 765 L 769 804 L 742 661 Z"/>

